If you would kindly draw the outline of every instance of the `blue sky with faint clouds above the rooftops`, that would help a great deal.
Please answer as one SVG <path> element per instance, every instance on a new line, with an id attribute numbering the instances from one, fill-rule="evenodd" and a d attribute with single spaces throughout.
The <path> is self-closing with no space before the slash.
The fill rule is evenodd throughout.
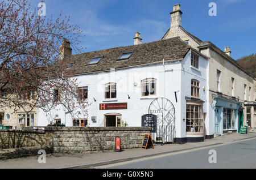
<path id="1" fill-rule="evenodd" d="M 29 0 L 37 8 L 40 0 Z M 217 4 L 217 16 L 209 16 L 210 2 Z M 45 0 L 47 16 L 70 15 L 86 37 L 83 52 L 133 45 L 135 32 L 143 42 L 160 40 L 170 28 L 172 6 L 180 3 L 182 26 L 188 32 L 211 41 L 232 57 L 256 53 L 256 1 L 254 0 Z M 76 52 L 73 52 L 76 53 Z"/>

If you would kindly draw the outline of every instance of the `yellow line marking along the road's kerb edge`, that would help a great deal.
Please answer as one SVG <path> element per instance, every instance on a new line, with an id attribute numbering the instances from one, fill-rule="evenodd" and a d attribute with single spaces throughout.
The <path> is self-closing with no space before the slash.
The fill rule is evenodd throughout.
<path id="1" fill-rule="evenodd" d="M 225 144 L 210 145 L 210 146 L 207 146 L 207 147 L 189 149 L 189 150 L 184 150 L 184 151 L 180 151 L 180 152 L 171 152 L 171 153 L 167 153 L 167 154 L 164 154 L 164 155 L 158 155 L 158 156 L 153 155 L 153 157 L 145 157 L 145 158 L 140 158 L 138 160 L 118 162 L 118 163 L 115 163 L 115 164 L 109 164 L 109 165 L 104 165 L 104 166 L 96 166 L 94 168 L 96 168 L 96 169 L 106 169 L 106 168 L 111 168 L 111 167 L 114 167 L 114 166 L 121 166 L 121 165 L 131 164 L 131 163 L 134 163 L 134 162 L 153 160 L 155 158 L 161 158 L 161 157 L 166 157 L 166 156 L 174 156 L 174 155 L 179 155 L 179 154 L 183 154 L 183 153 L 199 151 L 199 150 L 202 150 L 202 149 L 208 149 L 208 148 L 213 148 L 213 147 L 220 147 L 220 146 L 223 146 L 223 145 L 235 144 L 235 143 L 238 143 L 238 142 L 244 142 L 244 141 L 249 141 L 249 140 L 254 140 L 254 139 L 256 139 L 256 137 L 255 138 L 250 138 L 250 139 L 237 140 L 235 142 L 230 142 L 230 143 L 225 143 Z"/>

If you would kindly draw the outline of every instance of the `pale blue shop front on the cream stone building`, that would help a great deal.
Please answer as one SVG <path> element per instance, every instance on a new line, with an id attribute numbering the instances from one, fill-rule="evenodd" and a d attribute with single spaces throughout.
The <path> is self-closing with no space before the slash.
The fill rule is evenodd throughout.
<path id="1" fill-rule="evenodd" d="M 212 97 L 214 134 L 238 132 L 242 126 L 242 102 L 218 95 L 212 95 Z"/>

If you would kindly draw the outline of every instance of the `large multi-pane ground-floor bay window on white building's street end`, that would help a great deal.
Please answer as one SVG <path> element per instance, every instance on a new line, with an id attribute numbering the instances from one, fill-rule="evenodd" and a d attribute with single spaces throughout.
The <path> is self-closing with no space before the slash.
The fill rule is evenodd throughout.
<path id="1" fill-rule="evenodd" d="M 203 106 L 187 105 L 187 132 L 203 132 Z"/>

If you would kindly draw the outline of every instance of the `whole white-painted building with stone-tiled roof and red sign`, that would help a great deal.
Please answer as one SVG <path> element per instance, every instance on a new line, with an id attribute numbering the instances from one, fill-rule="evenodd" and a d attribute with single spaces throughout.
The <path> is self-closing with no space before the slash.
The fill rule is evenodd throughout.
<path id="1" fill-rule="evenodd" d="M 166 98 L 175 109 L 176 143 L 198 142 L 204 140 L 204 134 L 212 135 L 208 134 L 206 103 L 209 102 L 208 58 L 179 37 L 141 44 L 140 34 L 136 33 L 134 42 L 133 46 L 72 55 L 71 68 L 76 73 L 73 78 L 84 89 L 83 96 L 90 104 L 88 115 L 83 113 L 84 109 L 77 109 L 73 112 L 76 117 L 72 117 L 59 105 L 52 110 L 50 120 L 66 126 L 137 127 L 142 126 L 142 116 L 149 113 L 151 102 Z M 166 106 L 164 113 L 170 110 Z M 172 115 L 164 121 L 173 121 Z M 46 114 L 39 109 L 38 126 L 48 124 Z"/>

